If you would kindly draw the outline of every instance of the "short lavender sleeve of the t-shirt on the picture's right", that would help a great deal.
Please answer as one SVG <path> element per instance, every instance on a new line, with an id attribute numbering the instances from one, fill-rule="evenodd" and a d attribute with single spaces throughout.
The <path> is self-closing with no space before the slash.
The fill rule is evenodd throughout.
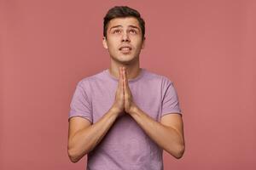
<path id="1" fill-rule="evenodd" d="M 165 116 L 170 113 L 178 113 L 182 115 L 176 89 L 174 88 L 173 82 L 169 79 L 164 81 L 163 92 L 161 116 Z"/>

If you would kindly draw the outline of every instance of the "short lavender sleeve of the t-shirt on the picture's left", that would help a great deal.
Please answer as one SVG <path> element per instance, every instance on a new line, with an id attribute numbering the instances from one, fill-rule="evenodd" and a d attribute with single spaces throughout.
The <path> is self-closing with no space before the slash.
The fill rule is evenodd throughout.
<path id="1" fill-rule="evenodd" d="M 90 101 L 85 93 L 85 89 L 81 81 L 77 84 L 71 100 L 68 121 L 73 116 L 81 116 L 92 122 Z"/>

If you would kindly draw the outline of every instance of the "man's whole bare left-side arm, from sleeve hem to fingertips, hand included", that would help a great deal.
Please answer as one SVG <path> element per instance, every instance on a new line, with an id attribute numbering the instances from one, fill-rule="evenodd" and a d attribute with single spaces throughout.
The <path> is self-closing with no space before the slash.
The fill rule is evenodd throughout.
<path id="1" fill-rule="evenodd" d="M 93 150 L 113 125 L 116 118 L 125 112 L 125 91 L 122 77 L 122 68 L 119 68 L 119 84 L 115 93 L 113 105 L 100 120 L 93 123 L 79 116 L 70 119 L 68 133 L 68 156 L 71 161 L 79 161 L 85 154 Z"/>

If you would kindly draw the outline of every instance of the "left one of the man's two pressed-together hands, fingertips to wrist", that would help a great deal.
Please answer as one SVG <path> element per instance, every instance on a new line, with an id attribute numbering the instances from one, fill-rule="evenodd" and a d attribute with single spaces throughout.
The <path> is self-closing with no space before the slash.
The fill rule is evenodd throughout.
<path id="1" fill-rule="evenodd" d="M 122 114 L 125 111 L 125 91 L 124 91 L 124 82 L 122 77 L 123 67 L 119 67 L 119 84 L 115 93 L 115 100 L 113 102 L 112 110 L 117 113 Z"/>

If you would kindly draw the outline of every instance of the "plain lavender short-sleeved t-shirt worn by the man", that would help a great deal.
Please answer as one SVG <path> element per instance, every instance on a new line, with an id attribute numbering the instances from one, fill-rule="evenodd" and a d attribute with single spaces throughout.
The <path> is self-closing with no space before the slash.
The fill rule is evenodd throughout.
<path id="1" fill-rule="evenodd" d="M 81 116 L 95 123 L 113 105 L 119 79 L 108 69 L 78 82 L 69 118 Z M 146 69 L 129 80 L 133 101 L 148 116 L 160 122 L 166 114 L 181 114 L 173 83 L 164 76 Z M 69 120 L 69 119 L 68 119 Z M 119 116 L 101 143 L 88 154 L 90 170 L 160 170 L 163 169 L 163 150 L 148 137 L 137 122 L 124 114 Z"/>

